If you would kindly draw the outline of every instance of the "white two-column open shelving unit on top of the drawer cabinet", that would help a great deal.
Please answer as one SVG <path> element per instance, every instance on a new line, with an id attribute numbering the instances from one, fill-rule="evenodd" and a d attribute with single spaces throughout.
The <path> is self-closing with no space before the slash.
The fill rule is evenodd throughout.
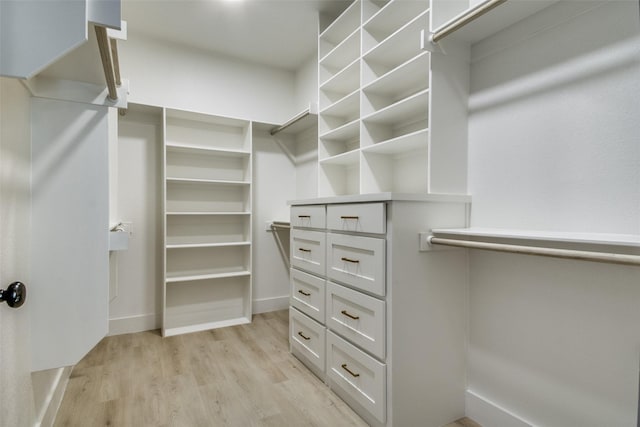
<path id="1" fill-rule="evenodd" d="M 320 197 L 466 194 L 466 127 L 458 128 L 461 117 L 466 121 L 468 75 L 450 71 L 465 68 L 458 65 L 468 51 L 454 46 L 454 55 L 434 57 L 422 50 L 430 6 L 426 0 L 356 0 L 320 33 Z M 332 57 L 339 52 L 337 62 Z M 432 129 L 432 109 L 453 114 Z"/>

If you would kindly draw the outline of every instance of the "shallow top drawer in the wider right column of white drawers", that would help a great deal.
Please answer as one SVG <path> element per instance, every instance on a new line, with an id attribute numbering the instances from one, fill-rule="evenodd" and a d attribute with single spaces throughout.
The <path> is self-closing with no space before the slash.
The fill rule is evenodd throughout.
<path id="1" fill-rule="evenodd" d="M 387 229 L 384 203 L 354 203 L 327 206 L 327 228 L 384 234 Z"/>

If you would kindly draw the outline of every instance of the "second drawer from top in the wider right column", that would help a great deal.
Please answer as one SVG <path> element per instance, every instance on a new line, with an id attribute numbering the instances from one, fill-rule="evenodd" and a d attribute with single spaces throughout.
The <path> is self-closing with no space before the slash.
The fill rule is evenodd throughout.
<path id="1" fill-rule="evenodd" d="M 385 241 L 346 234 L 327 235 L 327 276 L 375 295 L 385 295 Z"/>

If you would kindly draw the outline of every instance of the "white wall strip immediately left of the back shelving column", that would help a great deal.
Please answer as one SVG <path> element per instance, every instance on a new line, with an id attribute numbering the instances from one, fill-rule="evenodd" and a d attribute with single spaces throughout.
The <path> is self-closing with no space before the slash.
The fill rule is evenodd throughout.
<path id="1" fill-rule="evenodd" d="M 132 107 L 118 122 L 117 214 L 132 223 L 129 248 L 116 256 L 117 293 L 109 333 L 160 327 L 162 310 L 162 116 Z"/>

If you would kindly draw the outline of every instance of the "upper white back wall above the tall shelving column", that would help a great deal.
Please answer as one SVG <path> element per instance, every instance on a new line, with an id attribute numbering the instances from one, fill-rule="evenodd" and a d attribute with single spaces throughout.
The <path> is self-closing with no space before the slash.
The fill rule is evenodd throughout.
<path id="1" fill-rule="evenodd" d="M 118 44 L 129 101 L 266 123 L 296 111 L 294 73 L 146 38 Z"/>

